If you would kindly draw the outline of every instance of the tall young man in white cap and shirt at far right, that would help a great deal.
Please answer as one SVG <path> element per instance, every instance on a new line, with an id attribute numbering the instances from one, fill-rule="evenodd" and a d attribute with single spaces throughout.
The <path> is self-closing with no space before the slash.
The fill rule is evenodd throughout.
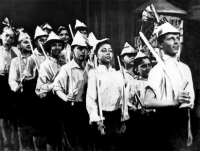
<path id="1" fill-rule="evenodd" d="M 187 123 L 185 121 L 184 124 L 187 108 L 180 109 L 179 107 L 185 105 L 185 107 L 193 108 L 194 89 L 189 67 L 178 61 L 176 57 L 180 48 L 180 32 L 168 22 L 159 26 L 157 31 L 158 42 L 163 49 L 162 60 L 168 69 L 168 76 L 159 64 L 152 68 L 148 77 L 144 106 L 157 108 L 157 120 L 160 122 L 157 123 L 159 126 L 156 131 L 157 134 L 162 135 L 156 135 L 157 147 L 173 150 L 172 144 L 169 143 L 170 138 Z M 183 90 L 185 81 L 189 83 Z"/>

